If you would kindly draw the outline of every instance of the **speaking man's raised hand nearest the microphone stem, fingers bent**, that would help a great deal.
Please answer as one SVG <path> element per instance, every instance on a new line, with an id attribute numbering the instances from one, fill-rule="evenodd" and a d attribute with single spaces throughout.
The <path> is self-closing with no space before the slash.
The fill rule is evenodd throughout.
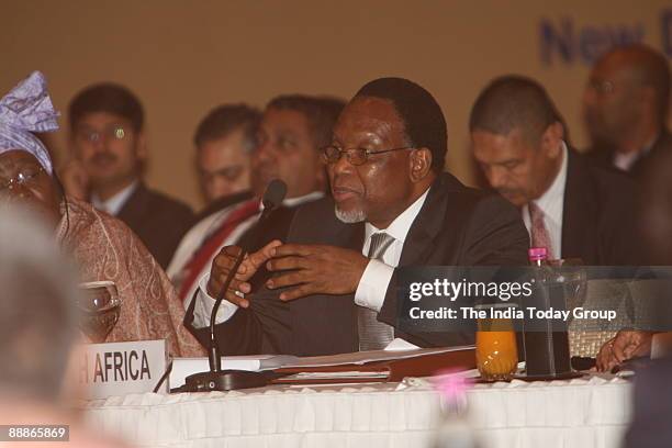
<path id="1" fill-rule="evenodd" d="M 246 254 L 236 275 L 228 284 L 228 290 L 224 299 L 240 307 L 248 307 L 249 301 L 245 299 L 244 294 L 251 292 L 251 285 L 247 280 L 257 272 L 259 267 L 264 266 L 264 264 L 271 258 L 272 250 L 281 244 L 281 242 L 276 239 L 254 254 Z M 220 294 L 222 287 L 224 287 L 226 276 L 228 276 L 228 272 L 231 272 L 236 264 L 236 257 L 240 254 L 240 250 L 243 249 L 238 246 L 225 246 L 220 250 L 220 254 L 217 254 L 212 261 L 210 280 L 208 281 L 208 294 L 213 298 Z"/>

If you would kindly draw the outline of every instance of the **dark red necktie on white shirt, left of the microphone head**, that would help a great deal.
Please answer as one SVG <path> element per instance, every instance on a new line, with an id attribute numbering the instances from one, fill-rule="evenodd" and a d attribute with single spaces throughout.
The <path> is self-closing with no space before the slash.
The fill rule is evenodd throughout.
<path id="1" fill-rule="evenodd" d="M 249 219 L 250 216 L 259 212 L 259 201 L 253 199 L 244 202 L 237 209 L 228 213 L 228 216 L 224 220 L 220 228 L 213 233 L 203 245 L 197 250 L 191 260 L 182 268 L 183 281 L 180 287 L 180 299 L 184 302 L 187 294 L 191 290 L 193 283 L 198 280 L 199 275 L 202 272 L 205 264 L 215 255 L 215 251 L 220 249 L 222 244 L 232 234 L 236 227 Z"/>

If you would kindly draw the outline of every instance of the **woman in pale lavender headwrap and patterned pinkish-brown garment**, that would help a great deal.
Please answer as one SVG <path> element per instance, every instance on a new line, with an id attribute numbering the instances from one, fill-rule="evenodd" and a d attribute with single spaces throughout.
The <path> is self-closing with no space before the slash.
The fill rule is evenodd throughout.
<path id="1" fill-rule="evenodd" d="M 35 71 L 0 100 L 0 202 L 34 210 L 71 253 L 80 281 L 110 280 L 122 300 L 108 341 L 166 339 L 172 356 L 202 352 L 181 324 L 170 281 L 121 221 L 64 194 L 43 144 L 32 134 L 58 128 L 44 76 Z"/>

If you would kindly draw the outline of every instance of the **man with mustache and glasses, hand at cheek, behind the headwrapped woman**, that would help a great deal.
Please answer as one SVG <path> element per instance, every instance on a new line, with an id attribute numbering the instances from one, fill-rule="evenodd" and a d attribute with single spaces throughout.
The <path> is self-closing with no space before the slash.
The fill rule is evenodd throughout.
<path id="1" fill-rule="evenodd" d="M 142 180 L 148 153 L 141 102 L 123 86 L 99 83 L 72 99 L 69 117 L 75 159 L 60 173 L 67 193 L 123 221 L 165 269 L 193 214 Z"/>

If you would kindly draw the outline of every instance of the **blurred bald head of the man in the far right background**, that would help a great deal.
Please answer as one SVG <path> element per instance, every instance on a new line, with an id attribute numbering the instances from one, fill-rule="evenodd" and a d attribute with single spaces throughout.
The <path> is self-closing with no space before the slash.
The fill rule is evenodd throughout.
<path id="1" fill-rule="evenodd" d="M 635 44 L 605 54 L 591 71 L 583 112 L 598 166 L 646 179 L 660 157 L 672 153 L 665 127 L 670 105 L 670 68 L 653 48 Z"/>

